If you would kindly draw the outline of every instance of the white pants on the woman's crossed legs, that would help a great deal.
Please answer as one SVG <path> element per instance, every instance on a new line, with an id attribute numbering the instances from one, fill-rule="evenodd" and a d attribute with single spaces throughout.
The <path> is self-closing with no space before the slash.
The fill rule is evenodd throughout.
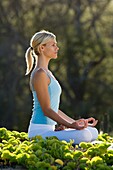
<path id="1" fill-rule="evenodd" d="M 55 126 L 45 124 L 30 123 L 28 128 L 28 137 L 32 138 L 37 135 L 41 135 L 44 139 L 50 136 L 56 136 L 59 140 L 65 140 L 67 142 L 70 139 L 74 140 L 74 144 L 80 142 L 91 142 L 97 139 L 98 130 L 95 127 L 87 127 L 83 130 L 65 129 L 61 131 L 54 131 Z"/>

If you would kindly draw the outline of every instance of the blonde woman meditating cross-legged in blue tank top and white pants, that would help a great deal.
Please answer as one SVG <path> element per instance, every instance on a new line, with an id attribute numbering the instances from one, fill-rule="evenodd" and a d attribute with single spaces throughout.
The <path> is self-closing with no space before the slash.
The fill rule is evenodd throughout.
<path id="1" fill-rule="evenodd" d="M 57 58 L 58 46 L 56 36 L 42 30 L 33 35 L 25 58 L 26 75 L 35 67 L 30 76 L 30 88 L 33 94 L 33 114 L 30 120 L 28 136 L 56 136 L 59 140 L 74 140 L 75 144 L 82 141 L 91 142 L 98 136 L 94 126 L 94 118 L 74 120 L 59 110 L 61 87 L 54 75 L 48 69 L 49 61 Z M 34 60 L 35 58 L 35 60 Z M 89 122 L 92 122 L 90 124 Z M 61 124 L 55 131 L 55 125 Z M 63 127 L 67 129 L 64 129 Z"/>

